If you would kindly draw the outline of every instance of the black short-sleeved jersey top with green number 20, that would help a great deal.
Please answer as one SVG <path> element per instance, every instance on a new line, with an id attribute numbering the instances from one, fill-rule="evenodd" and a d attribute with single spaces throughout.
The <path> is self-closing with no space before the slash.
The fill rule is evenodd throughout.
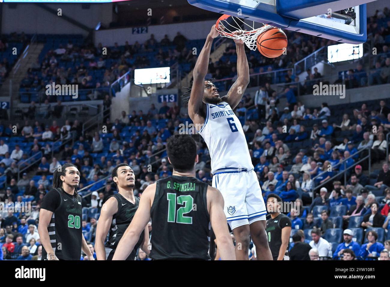
<path id="1" fill-rule="evenodd" d="M 62 188 L 52 189 L 43 198 L 41 208 L 53 212 L 48 232 L 51 248 L 60 260 L 80 260 L 82 246 L 82 198 Z M 48 259 L 42 246 L 42 260 Z"/>

